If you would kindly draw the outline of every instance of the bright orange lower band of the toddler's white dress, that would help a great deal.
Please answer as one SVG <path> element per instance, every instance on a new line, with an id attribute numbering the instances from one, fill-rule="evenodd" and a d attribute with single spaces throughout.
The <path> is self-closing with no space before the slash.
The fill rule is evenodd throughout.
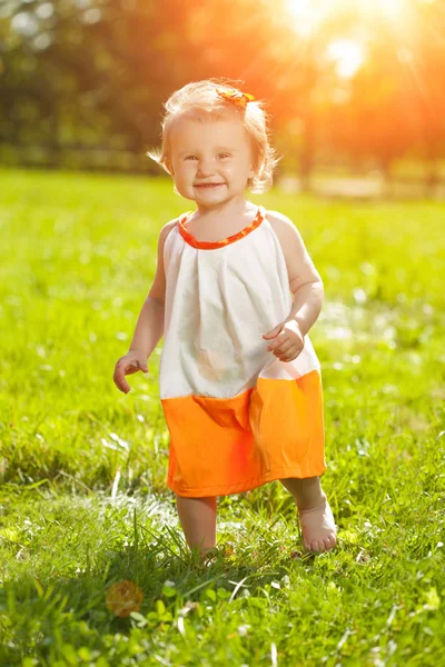
<path id="1" fill-rule="evenodd" d="M 178 496 L 239 494 L 326 470 L 322 378 L 258 377 L 231 398 L 161 400 L 170 434 L 168 487 Z"/>

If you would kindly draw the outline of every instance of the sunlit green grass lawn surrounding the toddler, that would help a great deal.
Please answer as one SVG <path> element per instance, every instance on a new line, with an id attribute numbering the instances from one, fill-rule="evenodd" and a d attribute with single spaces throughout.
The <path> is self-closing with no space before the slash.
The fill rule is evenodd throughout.
<path id="1" fill-rule="evenodd" d="M 0 173 L 0 665 L 445 665 L 444 206 L 253 197 L 298 226 L 326 290 L 339 546 L 303 556 L 274 482 L 219 499 L 208 564 L 165 484 L 149 374 L 112 382 L 151 285 L 167 180 Z M 115 616 L 112 584 L 144 594 Z"/>

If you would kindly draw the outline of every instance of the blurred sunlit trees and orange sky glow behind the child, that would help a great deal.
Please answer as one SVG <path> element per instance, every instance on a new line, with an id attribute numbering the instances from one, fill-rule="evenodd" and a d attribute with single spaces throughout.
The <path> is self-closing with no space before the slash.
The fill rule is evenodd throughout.
<path id="1" fill-rule="evenodd" d="M 442 0 L 2 0 L 0 163 L 159 173 L 162 103 L 268 102 L 294 190 L 445 197 Z"/>

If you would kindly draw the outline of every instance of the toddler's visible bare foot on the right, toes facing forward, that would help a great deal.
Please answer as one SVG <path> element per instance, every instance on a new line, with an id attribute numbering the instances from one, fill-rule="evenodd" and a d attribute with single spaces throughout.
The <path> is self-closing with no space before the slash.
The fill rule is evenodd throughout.
<path id="1" fill-rule="evenodd" d="M 323 504 L 308 509 L 298 509 L 303 531 L 303 544 L 308 551 L 329 551 L 337 544 L 334 515 L 325 494 Z"/>

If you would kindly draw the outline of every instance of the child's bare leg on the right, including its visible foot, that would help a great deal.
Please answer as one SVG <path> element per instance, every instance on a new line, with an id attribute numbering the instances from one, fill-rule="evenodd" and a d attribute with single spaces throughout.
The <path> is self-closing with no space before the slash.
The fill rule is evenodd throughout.
<path id="1" fill-rule="evenodd" d="M 310 551 L 328 551 L 335 547 L 335 520 L 319 477 L 280 481 L 297 504 L 305 548 Z"/>

